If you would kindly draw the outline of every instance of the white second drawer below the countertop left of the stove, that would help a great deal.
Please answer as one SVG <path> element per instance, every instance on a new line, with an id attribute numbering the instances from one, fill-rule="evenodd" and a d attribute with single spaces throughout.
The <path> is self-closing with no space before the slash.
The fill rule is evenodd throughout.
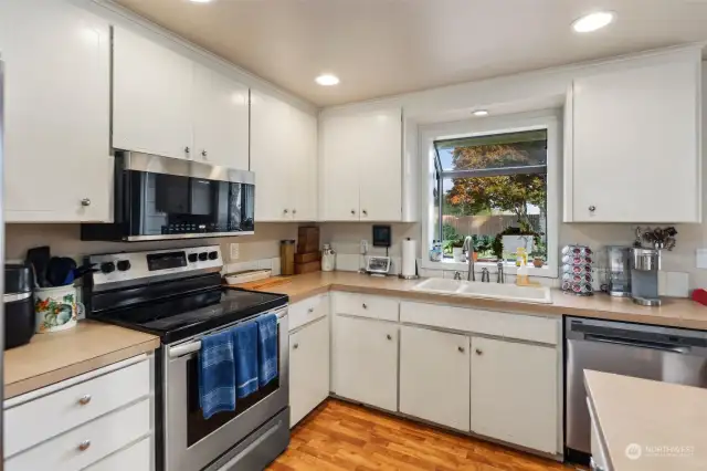
<path id="1" fill-rule="evenodd" d="M 150 402 L 145 399 L 10 458 L 6 471 L 84 469 L 149 432 Z M 88 443 L 84 450 L 83 443 Z"/>

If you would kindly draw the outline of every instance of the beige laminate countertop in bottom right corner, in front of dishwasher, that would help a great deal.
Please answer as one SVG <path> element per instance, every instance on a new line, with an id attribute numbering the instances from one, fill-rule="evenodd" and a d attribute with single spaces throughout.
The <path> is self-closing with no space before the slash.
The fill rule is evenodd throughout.
<path id="1" fill-rule="evenodd" d="M 707 390 L 591 370 L 584 384 L 612 471 L 707 470 Z"/>

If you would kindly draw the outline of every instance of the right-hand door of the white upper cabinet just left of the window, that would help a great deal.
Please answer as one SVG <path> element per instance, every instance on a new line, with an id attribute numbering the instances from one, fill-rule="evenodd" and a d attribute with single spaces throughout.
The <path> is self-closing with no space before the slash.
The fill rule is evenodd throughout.
<path id="1" fill-rule="evenodd" d="M 402 219 L 402 115 L 384 109 L 361 118 L 359 191 L 361 221 Z"/>

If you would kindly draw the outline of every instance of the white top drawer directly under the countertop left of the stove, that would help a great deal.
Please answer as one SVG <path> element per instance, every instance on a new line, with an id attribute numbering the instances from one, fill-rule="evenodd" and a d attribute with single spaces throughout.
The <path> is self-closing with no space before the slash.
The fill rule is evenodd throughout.
<path id="1" fill-rule="evenodd" d="M 7 409 L 6 457 L 147 397 L 149 393 L 150 370 L 146 359 Z M 42 426 L 36 427 L 38 423 Z"/>

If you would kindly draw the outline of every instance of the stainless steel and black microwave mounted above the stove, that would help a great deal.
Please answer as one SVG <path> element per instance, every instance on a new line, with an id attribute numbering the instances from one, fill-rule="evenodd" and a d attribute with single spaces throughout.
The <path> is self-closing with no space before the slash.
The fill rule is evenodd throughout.
<path id="1" fill-rule="evenodd" d="M 116 150 L 114 222 L 83 223 L 82 240 L 246 236 L 255 230 L 255 174 Z"/>

